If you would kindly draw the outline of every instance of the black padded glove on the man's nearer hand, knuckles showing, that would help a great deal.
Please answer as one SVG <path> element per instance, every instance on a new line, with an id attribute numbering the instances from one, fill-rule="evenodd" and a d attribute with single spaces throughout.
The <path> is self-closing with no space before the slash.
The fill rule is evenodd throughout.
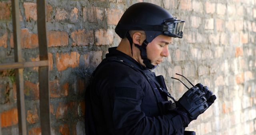
<path id="1" fill-rule="evenodd" d="M 187 126 L 190 121 L 195 120 L 198 115 L 203 113 L 209 106 L 206 103 L 204 91 L 194 86 L 182 95 L 177 101 L 176 112 L 180 114 L 184 121 L 184 126 Z"/>

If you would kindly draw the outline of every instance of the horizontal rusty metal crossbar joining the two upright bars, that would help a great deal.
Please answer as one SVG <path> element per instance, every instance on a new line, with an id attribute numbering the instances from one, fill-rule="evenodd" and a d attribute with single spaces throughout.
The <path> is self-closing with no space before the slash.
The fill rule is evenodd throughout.
<path id="1" fill-rule="evenodd" d="M 0 70 L 41 66 L 48 66 L 48 60 L 41 60 L 37 62 L 14 62 L 8 64 L 0 64 Z"/>

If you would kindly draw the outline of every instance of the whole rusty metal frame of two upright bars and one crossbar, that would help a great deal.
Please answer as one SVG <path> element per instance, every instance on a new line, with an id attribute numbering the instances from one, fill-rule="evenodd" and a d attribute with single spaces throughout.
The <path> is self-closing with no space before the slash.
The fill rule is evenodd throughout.
<path id="1" fill-rule="evenodd" d="M 16 89 L 17 89 L 17 108 L 18 108 L 18 127 L 20 135 L 27 135 L 26 112 L 24 99 L 24 78 L 23 69 L 25 67 L 39 67 L 39 100 L 40 100 L 40 122 L 42 135 L 51 135 L 50 123 L 50 91 L 49 91 L 49 67 L 48 67 L 48 48 L 46 36 L 46 0 L 37 0 L 37 28 L 39 42 L 38 62 L 23 62 L 22 48 L 20 40 L 20 16 L 19 1 L 12 0 L 12 24 L 14 40 L 14 63 L 0 64 L 0 70 L 15 69 Z M 0 135 L 2 135 L 0 129 Z"/>

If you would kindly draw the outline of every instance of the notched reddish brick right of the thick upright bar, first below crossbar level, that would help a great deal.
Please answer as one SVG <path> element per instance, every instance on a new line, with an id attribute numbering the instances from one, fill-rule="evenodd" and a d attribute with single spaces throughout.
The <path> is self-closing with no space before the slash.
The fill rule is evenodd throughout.
<path id="1" fill-rule="evenodd" d="M 68 95 L 68 83 L 60 85 L 58 80 L 50 81 L 50 97 L 63 97 Z"/>

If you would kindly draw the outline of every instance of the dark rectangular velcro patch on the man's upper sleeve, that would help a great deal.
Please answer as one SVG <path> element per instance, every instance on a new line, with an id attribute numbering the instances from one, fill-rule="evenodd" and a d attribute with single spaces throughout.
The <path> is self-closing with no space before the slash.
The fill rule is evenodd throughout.
<path id="1" fill-rule="evenodd" d="M 116 97 L 127 97 L 136 99 L 137 88 L 135 87 L 116 87 L 115 89 Z"/>

